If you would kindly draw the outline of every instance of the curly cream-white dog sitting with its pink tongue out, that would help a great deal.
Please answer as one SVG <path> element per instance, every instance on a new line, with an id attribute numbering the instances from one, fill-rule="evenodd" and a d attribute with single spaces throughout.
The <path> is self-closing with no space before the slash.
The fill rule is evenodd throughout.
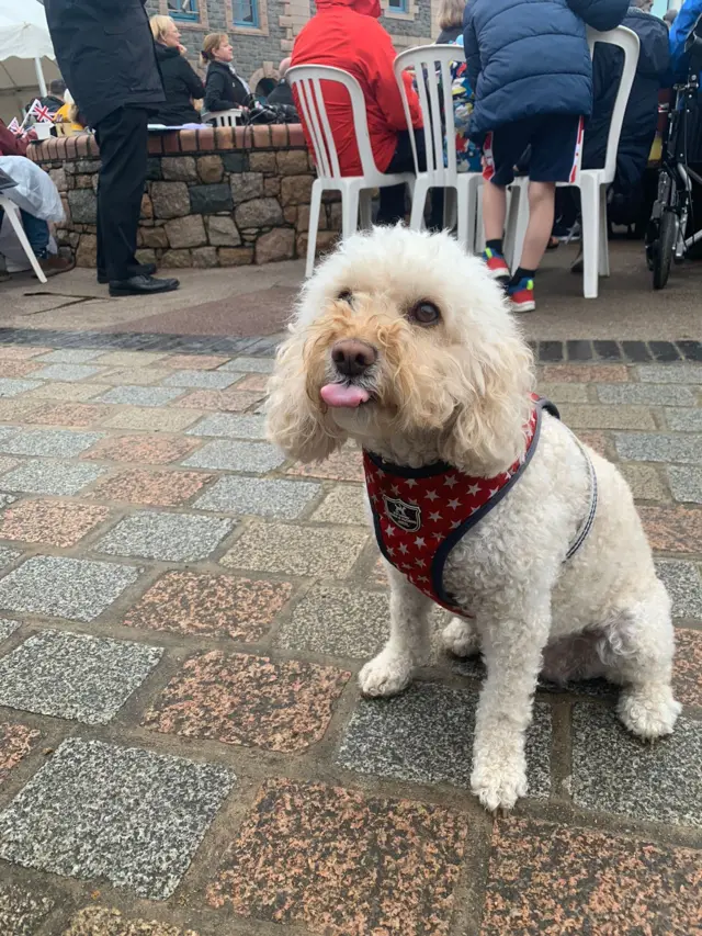
<path id="1" fill-rule="evenodd" d="M 529 347 L 479 260 L 444 234 L 376 228 L 347 240 L 304 286 L 271 381 L 269 433 L 303 462 L 355 439 L 373 484 L 378 465 L 411 484 L 443 463 L 477 490 L 485 478 L 505 485 L 524 460 L 536 420 L 532 382 Z M 480 651 L 487 666 L 472 787 L 489 810 L 526 791 L 524 733 L 540 672 L 621 684 L 619 715 L 645 738 L 669 734 L 680 711 L 670 601 L 631 492 L 556 418 L 543 413 L 539 422 L 526 467 L 448 550 L 440 582 L 424 587 L 387 564 L 390 636 L 360 674 L 369 696 L 399 692 L 423 658 L 432 597 L 464 616 L 444 643 L 460 656 Z M 593 523 L 568 559 L 596 484 Z M 431 505 L 380 498 L 386 559 L 393 527 L 403 542 L 419 531 L 423 546 L 430 516 L 467 496 L 456 488 L 437 501 L 421 490 Z"/>

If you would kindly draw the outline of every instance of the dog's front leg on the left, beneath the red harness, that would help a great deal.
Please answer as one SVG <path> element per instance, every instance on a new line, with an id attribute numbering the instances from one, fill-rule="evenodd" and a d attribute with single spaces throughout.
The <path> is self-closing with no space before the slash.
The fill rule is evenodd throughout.
<path id="1" fill-rule="evenodd" d="M 395 696 L 412 678 L 416 666 L 428 654 L 429 611 L 427 598 L 395 568 L 387 570 L 390 583 L 390 635 L 385 647 L 359 674 L 366 696 Z"/>

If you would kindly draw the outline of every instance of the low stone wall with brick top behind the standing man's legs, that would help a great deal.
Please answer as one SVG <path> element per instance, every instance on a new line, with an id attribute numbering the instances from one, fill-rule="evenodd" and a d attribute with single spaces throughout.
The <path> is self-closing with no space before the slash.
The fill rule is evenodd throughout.
<path id="1" fill-rule="evenodd" d="M 95 266 L 100 151 L 91 134 L 30 147 L 66 211 L 61 252 Z M 162 267 L 239 267 L 304 257 L 315 172 L 298 125 L 206 127 L 149 138 L 138 230 L 140 262 Z M 341 226 L 340 204 L 322 204 L 318 251 Z"/>

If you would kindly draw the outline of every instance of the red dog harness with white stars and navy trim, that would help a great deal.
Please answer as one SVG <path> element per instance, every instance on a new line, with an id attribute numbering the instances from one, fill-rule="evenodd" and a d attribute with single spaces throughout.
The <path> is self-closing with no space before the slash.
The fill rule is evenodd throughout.
<path id="1" fill-rule="evenodd" d="M 559 418 L 556 407 L 534 399 L 526 427 L 525 450 L 509 471 L 497 477 L 472 477 L 445 462 L 421 469 L 388 464 L 363 452 L 375 535 L 385 559 L 420 591 L 454 614 L 463 614 L 443 586 L 443 571 L 451 550 L 509 493 L 536 451 L 542 409 Z M 590 472 L 590 508 L 566 560 L 582 544 L 597 508 L 597 478 L 589 455 L 581 448 Z"/>

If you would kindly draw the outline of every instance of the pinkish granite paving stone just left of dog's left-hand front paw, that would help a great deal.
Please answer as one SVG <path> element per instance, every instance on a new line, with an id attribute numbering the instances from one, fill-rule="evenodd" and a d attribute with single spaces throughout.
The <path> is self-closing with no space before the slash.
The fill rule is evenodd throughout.
<path id="1" fill-rule="evenodd" d="M 211 651 L 183 664 L 143 724 L 166 734 L 299 753 L 324 737 L 350 676 L 314 663 Z"/>

